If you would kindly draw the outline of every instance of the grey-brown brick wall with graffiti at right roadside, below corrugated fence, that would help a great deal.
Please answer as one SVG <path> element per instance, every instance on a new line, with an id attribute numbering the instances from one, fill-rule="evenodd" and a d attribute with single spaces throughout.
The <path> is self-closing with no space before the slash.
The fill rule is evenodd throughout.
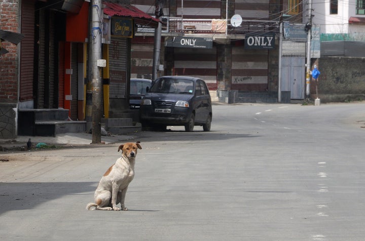
<path id="1" fill-rule="evenodd" d="M 318 97 L 321 102 L 365 99 L 365 58 L 321 57 L 314 64 L 320 71 Z M 312 81 L 312 99 L 316 98 L 315 87 Z"/>

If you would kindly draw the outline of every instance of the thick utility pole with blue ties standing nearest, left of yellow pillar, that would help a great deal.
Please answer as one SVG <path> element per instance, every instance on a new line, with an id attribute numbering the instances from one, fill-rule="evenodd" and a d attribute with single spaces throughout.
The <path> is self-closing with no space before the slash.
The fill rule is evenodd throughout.
<path id="1" fill-rule="evenodd" d="M 101 60 L 101 18 L 102 18 L 102 3 L 101 0 L 92 0 L 90 7 L 92 8 L 92 143 L 101 143 L 101 75 L 100 64 Z"/>

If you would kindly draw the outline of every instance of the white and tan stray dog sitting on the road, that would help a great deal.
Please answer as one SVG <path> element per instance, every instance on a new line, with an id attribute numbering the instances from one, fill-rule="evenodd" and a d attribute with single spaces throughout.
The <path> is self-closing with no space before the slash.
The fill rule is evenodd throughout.
<path id="1" fill-rule="evenodd" d="M 129 183 L 134 177 L 134 163 L 137 149 L 142 149 L 140 142 L 125 143 L 118 147 L 122 150 L 122 156 L 102 176 L 94 194 L 95 203 L 89 203 L 87 210 L 95 207 L 95 210 L 124 210 L 125 195 Z M 117 205 L 121 204 L 121 208 Z"/>

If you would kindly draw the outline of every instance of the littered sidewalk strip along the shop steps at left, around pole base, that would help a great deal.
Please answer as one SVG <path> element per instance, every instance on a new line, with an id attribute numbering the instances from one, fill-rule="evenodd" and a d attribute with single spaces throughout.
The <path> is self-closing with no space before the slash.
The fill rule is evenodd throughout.
<path id="1" fill-rule="evenodd" d="M 103 144 L 112 144 L 118 142 L 125 142 L 134 139 L 133 135 L 111 135 L 101 136 Z M 47 146 L 72 146 L 72 145 L 90 145 L 92 142 L 92 134 L 89 133 L 65 133 L 58 134 L 56 137 L 52 136 L 18 136 L 16 139 L 0 139 L 0 153 L 4 150 L 22 150 L 26 149 L 27 141 L 31 140 L 32 148 L 38 143 L 46 143 Z"/>

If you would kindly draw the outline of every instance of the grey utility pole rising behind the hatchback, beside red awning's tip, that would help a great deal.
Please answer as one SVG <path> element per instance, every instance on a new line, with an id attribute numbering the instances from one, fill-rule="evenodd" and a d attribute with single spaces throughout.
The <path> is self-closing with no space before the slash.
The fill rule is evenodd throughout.
<path id="1" fill-rule="evenodd" d="M 153 60 L 153 72 L 152 79 L 155 80 L 157 76 L 157 71 L 160 65 L 160 51 L 161 51 L 161 32 L 162 32 L 162 23 L 161 16 L 163 15 L 163 7 L 165 5 L 166 0 L 156 0 L 155 3 L 155 15 L 156 18 L 159 19 L 158 27 L 155 29 L 155 43 L 154 43 L 154 60 Z"/>

